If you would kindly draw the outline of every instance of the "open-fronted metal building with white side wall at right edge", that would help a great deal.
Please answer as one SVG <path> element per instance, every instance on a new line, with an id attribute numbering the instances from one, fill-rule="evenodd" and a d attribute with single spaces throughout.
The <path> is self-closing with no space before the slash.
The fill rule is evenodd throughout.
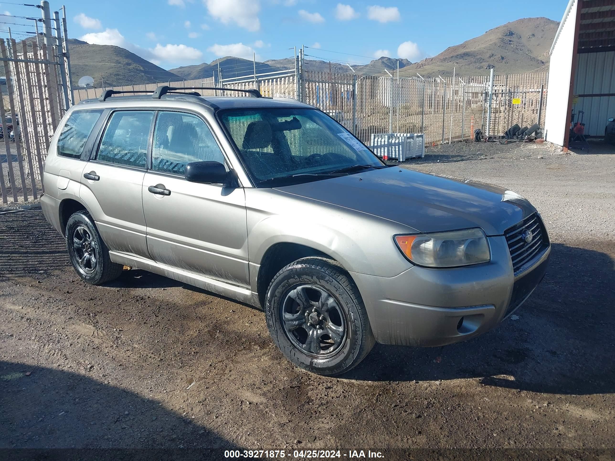
<path id="1" fill-rule="evenodd" d="M 615 0 L 570 0 L 550 55 L 545 139 L 568 148 L 572 114 L 604 136 L 615 116 Z"/>

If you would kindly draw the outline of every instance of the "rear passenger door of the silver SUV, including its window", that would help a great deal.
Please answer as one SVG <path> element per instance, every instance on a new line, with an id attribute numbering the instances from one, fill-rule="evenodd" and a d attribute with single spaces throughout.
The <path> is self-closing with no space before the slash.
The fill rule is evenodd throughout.
<path id="1" fill-rule="evenodd" d="M 141 189 L 155 111 L 111 112 L 79 192 L 111 251 L 149 258 Z"/>

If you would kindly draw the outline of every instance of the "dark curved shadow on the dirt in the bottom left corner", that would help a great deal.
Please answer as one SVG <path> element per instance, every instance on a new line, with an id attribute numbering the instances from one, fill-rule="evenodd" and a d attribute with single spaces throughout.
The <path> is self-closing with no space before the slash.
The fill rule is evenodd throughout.
<path id="1" fill-rule="evenodd" d="M 224 450 L 239 449 L 156 400 L 82 374 L 41 366 L 0 361 L 0 407 L 0 449 L 5 455 L 7 449 L 23 448 L 130 447 L 156 449 L 159 454 L 178 449 L 190 454 L 188 448 L 198 448 L 195 459 L 207 459 L 207 450 L 210 458 L 218 459 Z M 33 454 L 21 453 L 23 459 L 38 459 Z M 57 459 L 68 459 L 66 453 L 55 454 Z M 82 454 L 81 459 L 95 454 L 96 450 Z M 15 451 L 7 459 L 18 455 Z"/>

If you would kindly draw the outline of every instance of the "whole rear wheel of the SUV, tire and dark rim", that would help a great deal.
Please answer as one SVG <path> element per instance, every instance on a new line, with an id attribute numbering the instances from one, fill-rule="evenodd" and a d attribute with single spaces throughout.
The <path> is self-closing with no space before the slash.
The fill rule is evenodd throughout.
<path id="1" fill-rule="evenodd" d="M 87 211 L 76 211 L 68 218 L 66 248 L 75 271 L 87 283 L 101 285 L 122 274 L 124 266 L 109 259 L 109 249 Z"/>

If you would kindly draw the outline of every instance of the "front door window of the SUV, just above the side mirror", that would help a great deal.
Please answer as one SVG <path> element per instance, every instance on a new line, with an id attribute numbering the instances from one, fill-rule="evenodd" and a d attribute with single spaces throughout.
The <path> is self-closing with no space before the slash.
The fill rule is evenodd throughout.
<path id="1" fill-rule="evenodd" d="M 192 114 L 160 112 L 154 130 L 152 169 L 183 175 L 191 162 L 224 164 L 224 156 L 205 122 Z"/>

